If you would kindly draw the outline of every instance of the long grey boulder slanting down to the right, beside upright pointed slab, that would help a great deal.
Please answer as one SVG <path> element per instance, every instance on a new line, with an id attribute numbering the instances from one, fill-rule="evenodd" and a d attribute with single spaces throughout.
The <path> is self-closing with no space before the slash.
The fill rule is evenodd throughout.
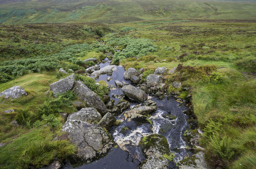
<path id="1" fill-rule="evenodd" d="M 107 113 L 107 108 L 99 96 L 81 81 L 76 81 L 72 90 L 81 101 L 85 101 L 89 107 L 96 108 L 102 116 Z"/>

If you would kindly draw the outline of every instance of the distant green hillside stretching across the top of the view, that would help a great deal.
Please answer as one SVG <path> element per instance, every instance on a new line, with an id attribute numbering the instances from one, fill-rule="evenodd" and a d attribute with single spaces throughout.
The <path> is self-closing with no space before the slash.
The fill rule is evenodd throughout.
<path id="1" fill-rule="evenodd" d="M 256 18 L 255 0 L 1 0 L 0 23 L 124 23 L 138 20 Z"/>

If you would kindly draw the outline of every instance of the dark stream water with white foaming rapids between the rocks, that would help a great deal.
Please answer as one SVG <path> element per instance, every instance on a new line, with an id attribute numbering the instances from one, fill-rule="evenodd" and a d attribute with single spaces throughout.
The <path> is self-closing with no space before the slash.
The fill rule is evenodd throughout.
<path id="1" fill-rule="evenodd" d="M 100 63 L 100 68 L 110 65 L 110 61 L 106 58 L 104 63 Z M 113 95 L 123 94 L 120 88 L 115 85 L 115 80 L 119 80 L 123 83 L 130 83 L 123 78 L 124 68 L 117 66 L 117 69 L 111 76 L 100 75 L 96 81 L 107 81 L 107 77 L 111 77 L 112 80 L 108 81 L 109 85 L 114 85 L 115 90 L 110 90 L 109 96 L 117 103 L 120 98 L 113 97 Z M 130 101 L 130 108 L 133 108 L 137 104 L 140 104 L 129 98 L 125 98 Z M 171 152 L 175 153 L 175 161 L 180 161 L 187 154 L 185 147 L 185 141 L 183 141 L 183 132 L 188 128 L 188 117 L 183 113 L 187 109 L 185 105 L 179 103 L 174 98 L 164 98 L 159 100 L 157 97 L 152 98 L 157 103 L 157 111 L 152 113 L 149 119 L 152 121 L 152 125 L 149 123 L 138 124 L 135 121 L 126 119 L 123 114 L 115 116 L 115 118 L 121 123 L 118 126 L 114 126 L 110 129 L 114 141 L 118 144 L 119 148 L 114 148 L 107 156 L 78 167 L 78 169 L 136 169 L 138 165 L 145 160 L 141 149 L 138 147 L 140 140 L 144 136 L 150 134 L 160 134 L 165 136 L 168 141 Z M 122 129 L 126 129 L 125 131 Z"/>

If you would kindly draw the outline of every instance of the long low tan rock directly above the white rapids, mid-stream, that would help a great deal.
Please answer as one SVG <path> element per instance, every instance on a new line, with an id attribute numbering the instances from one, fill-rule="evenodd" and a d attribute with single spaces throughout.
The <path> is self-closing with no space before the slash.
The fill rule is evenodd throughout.
<path id="1" fill-rule="evenodd" d="M 141 114 L 141 115 L 147 116 L 156 110 L 157 110 L 156 106 L 137 106 L 137 107 L 133 107 L 131 110 L 125 111 L 124 116 L 126 118 L 131 117 L 133 114 Z"/>

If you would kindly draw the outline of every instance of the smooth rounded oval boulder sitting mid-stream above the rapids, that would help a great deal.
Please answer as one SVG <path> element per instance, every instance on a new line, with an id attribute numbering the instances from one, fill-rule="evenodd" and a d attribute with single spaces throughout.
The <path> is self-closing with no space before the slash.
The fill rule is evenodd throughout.
<path id="1" fill-rule="evenodd" d="M 134 86 L 131 85 L 126 85 L 122 88 L 123 93 L 125 94 L 125 96 L 134 99 L 136 101 L 139 102 L 144 102 L 148 96 L 145 93 L 145 91 L 141 90 L 140 88 L 136 88 Z"/>

